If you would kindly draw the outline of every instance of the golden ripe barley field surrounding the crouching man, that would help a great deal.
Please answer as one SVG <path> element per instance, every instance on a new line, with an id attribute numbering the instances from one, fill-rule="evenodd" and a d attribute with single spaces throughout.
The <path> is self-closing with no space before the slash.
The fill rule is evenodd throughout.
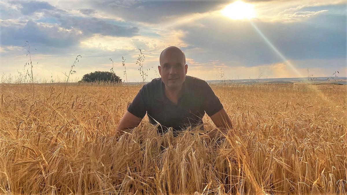
<path id="1" fill-rule="evenodd" d="M 234 125 L 218 144 L 147 117 L 117 141 L 142 86 L 64 87 L 0 85 L 0 194 L 347 193 L 347 86 L 211 85 Z"/>

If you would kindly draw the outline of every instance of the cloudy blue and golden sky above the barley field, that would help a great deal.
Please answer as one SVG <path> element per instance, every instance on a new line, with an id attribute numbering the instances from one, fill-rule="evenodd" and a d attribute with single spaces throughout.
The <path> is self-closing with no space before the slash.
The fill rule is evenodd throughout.
<path id="1" fill-rule="evenodd" d="M 252 17 L 234 1 L 0 0 L 0 74 L 19 77 L 29 60 L 37 80 L 63 81 L 110 71 L 142 81 L 160 77 L 159 56 L 177 46 L 187 75 L 204 80 L 347 76 L 345 0 L 253 0 Z M 233 4 L 234 5 L 234 4 Z M 224 12 L 222 11 L 224 10 Z M 229 17 L 228 17 L 229 16 Z M 122 66 L 122 57 L 125 67 Z M 113 60 L 110 61 L 110 58 Z M 308 69 L 308 71 L 307 71 Z"/>

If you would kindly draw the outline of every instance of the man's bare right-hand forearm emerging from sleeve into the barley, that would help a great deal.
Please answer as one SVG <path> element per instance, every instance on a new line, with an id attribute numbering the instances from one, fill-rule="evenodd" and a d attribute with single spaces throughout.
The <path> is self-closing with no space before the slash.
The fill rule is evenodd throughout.
<path id="1" fill-rule="evenodd" d="M 212 115 L 210 118 L 217 126 L 217 129 L 213 129 L 208 133 L 211 138 L 214 138 L 218 134 L 218 129 L 223 133 L 227 133 L 228 129 L 232 129 L 231 120 L 224 108 Z"/>

